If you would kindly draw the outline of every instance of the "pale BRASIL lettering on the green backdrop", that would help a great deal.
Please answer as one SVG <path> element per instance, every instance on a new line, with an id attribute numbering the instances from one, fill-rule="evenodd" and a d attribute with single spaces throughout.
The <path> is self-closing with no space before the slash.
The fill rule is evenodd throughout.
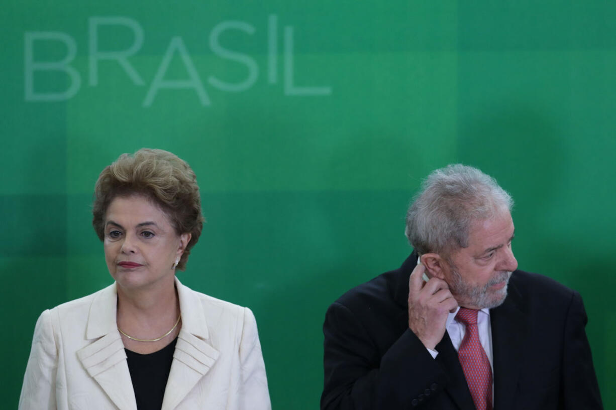
<path id="1" fill-rule="evenodd" d="M 105 27 L 106 26 L 106 27 Z M 120 50 L 100 50 L 100 28 L 105 27 L 105 32 L 114 28 L 128 30 L 132 34 L 132 44 L 128 48 Z M 252 36 L 256 29 L 247 22 L 238 20 L 226 20 L 218 23 L 209 33 L 209 48 L 217 57 L 230 60 L 245 66 L 246 78 L 238 82 L 227 82 L 216 76 L 210 75 L 207 84 L 224 92 L 244 92 L 250 89 L 259 78 L 259 65 L 255 58 L 249 54 L 243 54 L 236 50 L 230 50 L 221 45 L 221 36 L 225 32 L 237 31 L 242 35 Z M 120 65 L 134 86 L 147 86 L 147 92 L 142 102 L 143 107 L 150 107 L 161 90 L 193 90 L 197 94 L 198 101 L 203 106 L 211 105 L 211 99 L 203 84 L 200 74 L 195 68 L 193 59 L 184 40 L 180 36 L 174 36 L 169 41 L 166 51 L 161 58 L 156 74 L 147 85 L 142 75 L 131 64 L 130 58 L 137 55 L 144 44 L 144 30 L 142 26 L 129 17 L 90 17 L 88 19 L 88 85 L 96 87 L 99 84 L 99 62 L 111 61 Z M 39 60 L 34 55 L 34 45 L 41 47 L 45 42 L 59 42 L 65 46 L 66 54 L 59 60 Z M 25 74 L 25 100 L 28 102 L 60 102 L 75 97 L 82 86 L 81 74 L 71 65 L 77 55 L 77 43 L 75 38 L 61 31 L 26 31 L 24 38 L 24 74 Z M 168 79 L 166 74 L 174 58 L 184 66 L 185 79 Z M 267 18 L 267 82 L 278 83 L 278 17 L 269 15 Z M 296 96 L 323 96 L 331 94 L 330 86 L 298 86 L 294 79 L 294 55 L 293 55 L 293 26 L 285 26 L 283 29 L 282 50 L 282 79 L 283 94 Z M 63 90 L 43 92 L 37 90 L 35 74 L 44 72 L 60 73 L 67 77 L 68 86 Z"/>

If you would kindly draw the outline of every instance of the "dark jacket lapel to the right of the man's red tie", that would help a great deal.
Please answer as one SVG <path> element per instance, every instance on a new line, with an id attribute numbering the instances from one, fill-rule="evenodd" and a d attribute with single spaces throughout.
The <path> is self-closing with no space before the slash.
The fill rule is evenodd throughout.
<path id="1" fill-rule="evenodd" d="M 492 324 L 494 408 L 508 410 L 511 409 L 513 395 L 516 392 L 523 359 L 522 343 L 527 331 L 524 303 L 522 295 L 515 286 L 515 280 L 509 281 L 505 302 L 490 310 L 490 323 Z"/>

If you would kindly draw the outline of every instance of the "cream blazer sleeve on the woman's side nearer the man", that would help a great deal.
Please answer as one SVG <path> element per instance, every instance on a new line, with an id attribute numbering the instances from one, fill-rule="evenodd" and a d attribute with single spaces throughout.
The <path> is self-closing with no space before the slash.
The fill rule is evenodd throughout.
<path id="1" fill-rule="evenodd" d="M 243 410 L 271 410 L 265 363 L 257 332 L 257 321 L 249 308 L 244 308 L 240 342 L 241 395 Z"/>

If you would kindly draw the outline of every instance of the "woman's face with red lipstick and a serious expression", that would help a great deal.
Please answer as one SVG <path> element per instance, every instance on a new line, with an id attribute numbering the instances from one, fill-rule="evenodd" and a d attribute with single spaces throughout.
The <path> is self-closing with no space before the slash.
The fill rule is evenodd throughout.
<path id="1" fill-rule="evenodd" d="M 177 235 L 167 215 L 140 195 L 116 197 L 105 215 L 105 260 L 126 290 L 148 290 L 173 281 L 174 263 L 190 241 Z"/>

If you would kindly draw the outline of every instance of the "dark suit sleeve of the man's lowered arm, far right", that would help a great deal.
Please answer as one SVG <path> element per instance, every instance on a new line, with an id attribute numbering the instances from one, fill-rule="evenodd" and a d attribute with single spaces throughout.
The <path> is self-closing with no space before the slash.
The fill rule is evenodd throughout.
<path id="1" fill-rule="evenodd" d="M 587 322 L 582 297 L 578 292 L 573 292 L 565 323 L 562 357 L 562 408 L 565 410 L 603 409 L 586 337 Z"/>

